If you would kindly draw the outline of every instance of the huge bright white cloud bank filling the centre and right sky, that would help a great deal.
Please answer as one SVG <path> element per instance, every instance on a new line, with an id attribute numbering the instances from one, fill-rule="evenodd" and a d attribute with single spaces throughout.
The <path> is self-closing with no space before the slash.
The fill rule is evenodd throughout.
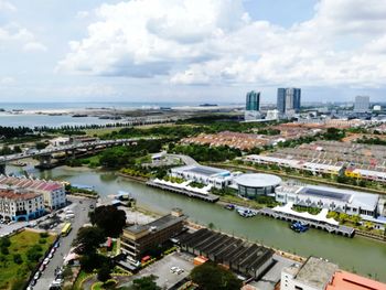
<path id="1" fill-rule="evenodd" d="M 104 4 L 60 71 L 153 77 L 172 84 L 380 86 L 386 2 L 321 0 L 289 29 L 254 21 L 242 0 Z"/>

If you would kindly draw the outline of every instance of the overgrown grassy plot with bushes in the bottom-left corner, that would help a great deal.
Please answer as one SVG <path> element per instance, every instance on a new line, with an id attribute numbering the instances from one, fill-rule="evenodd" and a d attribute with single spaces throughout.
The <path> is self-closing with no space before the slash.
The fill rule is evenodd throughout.
<path id="1" fill-rule="evenodd" d="M 0 289 L 23 289 L 31 270 L 55 239 L 49 236 L 46 244 L 39 245 L 40 238 L 29 230 L 1 238 L 1 249 L 7 248 L 8 254 L 0 254 Z"/>

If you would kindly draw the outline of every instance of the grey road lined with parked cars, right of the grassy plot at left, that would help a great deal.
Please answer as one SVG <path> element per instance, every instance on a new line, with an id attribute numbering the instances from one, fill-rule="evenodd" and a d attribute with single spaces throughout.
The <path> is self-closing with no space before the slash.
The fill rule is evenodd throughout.
<path id="1" fill-rule="evenodd" d="M 68 197 L 73 202 L 74 206 L 72 211 L 75 214 L 75 217 L 72 221 L 72 230 L 68 236 L 61 238 L 61 246 L 54 254 L 54 257 L 43 271 L 41 278 L 37 280 L 36 284 L 33 287 L 34 290 L 47 290 L 51 282 L 55 278 L 55 269 L 63 266 L 63 258 L 68 254 L 72 243 L 76 237 L 78 229 L 86 223 L 88 219 L 89 206 L 93 204 L 95 206 L 96 201 L 90 198 L 77 198 Z M 82 204 L 79 203 L 82 202 Z"/>

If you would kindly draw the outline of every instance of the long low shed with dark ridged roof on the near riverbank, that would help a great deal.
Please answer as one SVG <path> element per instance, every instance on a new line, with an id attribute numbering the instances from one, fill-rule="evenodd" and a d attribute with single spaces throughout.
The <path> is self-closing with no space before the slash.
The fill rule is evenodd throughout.
<path id="1" fill-rule="evenodd" d="M 258 278 L 274 262 L 274 250 L 206 228 L 186 233 L 181 249 L 223 265 L 248 278 Z"/>

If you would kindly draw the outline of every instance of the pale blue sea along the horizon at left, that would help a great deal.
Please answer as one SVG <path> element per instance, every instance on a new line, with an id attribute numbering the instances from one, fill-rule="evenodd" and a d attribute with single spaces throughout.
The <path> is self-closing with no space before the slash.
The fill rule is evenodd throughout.
<path id="1" fill-rule="evenodd" d="M 197 107 L 200 103 L 0 103 L 0 126 L 2 127 L 62 127 L 82 125 L 107 125 L 125 120 L 99 119 L 98 117 L 74 118 L 71 115 L 51 116 L 32 114 L 37 111 L 60 111 L 85 109 L 151 109 L 161 107 Z M 236 104 L 217 103 L 218 106 Z"/>

